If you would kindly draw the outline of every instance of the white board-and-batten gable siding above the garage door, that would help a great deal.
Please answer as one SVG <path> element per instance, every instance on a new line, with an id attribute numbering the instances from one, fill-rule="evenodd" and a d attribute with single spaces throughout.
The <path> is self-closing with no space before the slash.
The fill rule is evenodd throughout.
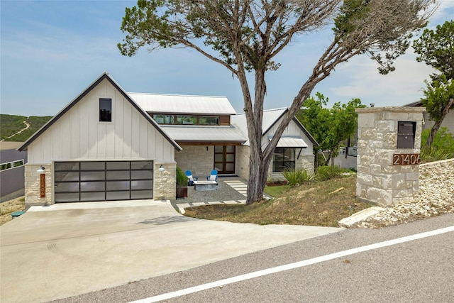
<path id="1" fill-rule="evenodd" d="M 99 122 L 99 98 L 112 121 Z M 175 147 L 106 79 L 28 146 L 29 163 L 55 160 L 175 161 Z"/>

